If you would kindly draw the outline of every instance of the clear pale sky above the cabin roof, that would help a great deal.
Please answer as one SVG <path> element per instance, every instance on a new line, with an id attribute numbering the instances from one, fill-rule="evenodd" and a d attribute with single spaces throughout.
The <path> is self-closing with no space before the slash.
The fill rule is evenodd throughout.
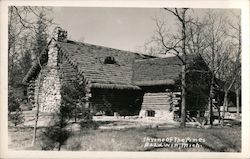
<path id="1" fill-rule="evenodd" d="M 204 15 L 207 10 L 195 10 Z M 220 10 L 225 12 L 226 10 Z M 138 51 L 155 31 L 155 17 L 166 16 L 158 8 L 55 7 L 54 22 L 68 31 L 68 39 L 128 51 Z M 175 17 L 167 16 L 172 30 Z"/>

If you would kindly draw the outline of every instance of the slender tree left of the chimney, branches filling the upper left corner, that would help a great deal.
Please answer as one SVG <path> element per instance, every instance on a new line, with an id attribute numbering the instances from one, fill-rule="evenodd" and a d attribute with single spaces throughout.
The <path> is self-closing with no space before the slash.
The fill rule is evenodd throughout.
<path id="1" fill-rule="evenodd" d="M 47 43 L 46 28 L 52 24 L 52 19 L 49 18 L 51 11 L 51 8 L 48 7 L 9 7 L 9 88 L 14 87 L 16 83 L 21 83 L 21 80 L 16 77 L 25 76 L 32 65 L 33 58 L 40 63 L 39 55 Z M 37 21 L 36 18 L 39 20 Z M 11 104 L 9 104 L 10 106 Z M 37 111 L 39 111 L 39 106 L 37 107 Z M 38 112 L 36 113 L 32 144 L 36 138 L 37 121 Z"/>

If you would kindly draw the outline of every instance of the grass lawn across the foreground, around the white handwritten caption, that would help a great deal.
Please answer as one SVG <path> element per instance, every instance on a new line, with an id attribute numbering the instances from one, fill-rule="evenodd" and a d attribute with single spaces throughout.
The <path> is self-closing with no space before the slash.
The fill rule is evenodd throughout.
<path id="1" fill-rule="evenodd" d="M 41 134 L 42 128 L 38 129 Z M 40 149 L 39 142 L 30 147 L 32 128 L 10 127 L 9 149 Z M 40 132 L 40 133 L 39 133 Z M 203 138 L 197 148 L 157 148 L 144 147 L 144 137 L 151 138 Z M 83 129 L 74 132 L 61 150 L 70 151 L 200 151 L 200 152 L 240 152 L 241 128 L 213 127 L 199 128 L 127 128 L 122 130 Z"/>

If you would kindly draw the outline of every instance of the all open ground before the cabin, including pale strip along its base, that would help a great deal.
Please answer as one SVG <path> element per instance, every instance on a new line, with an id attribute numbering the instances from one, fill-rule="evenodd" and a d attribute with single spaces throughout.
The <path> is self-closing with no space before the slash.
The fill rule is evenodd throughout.
<path id="1" fill-rule="evenodd" d="M 240 152 L 240 125 L 213 126 L 204 129 L 188 124 L 179 128 L 178 123 L 159 123 L 153 120 L 95 119 L 97 129 L 76 129 L 61 150 L 73 151 L 202 151 L 202 152 Z M 138 124 L 140 123 L 140 124 Z M 38 134 L 44 130 L 38 129 Z M 41 150 L 40 142 L 31 147 L 33 128 L 28 126 L 9 126 L 9 149 Z M 155 141 L 155 139 L 158 139 Z M 161 139 L 161 141 L 159 141 Z M 189 145 L 186 147 L 184 139 Z M 149 141 L 150 140 L 150 141 Z M 165 142 L 163 140 L 171 140 Z M 176 143 L 178 143 L 176 145 Z M 198 143 L 198 144 L 197 144 Z M 172 144 L 172 145 L 171 145 Z"/>

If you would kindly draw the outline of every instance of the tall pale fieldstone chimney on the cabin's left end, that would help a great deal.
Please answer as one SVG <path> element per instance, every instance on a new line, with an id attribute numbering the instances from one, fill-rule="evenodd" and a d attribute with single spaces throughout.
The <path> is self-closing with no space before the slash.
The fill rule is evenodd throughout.
<path id="1" fill-rule="evenodd" d="M 48 62 L 43 66 L 35 80 L 34 100 L 38 103 L 41 112 L 56 112 L 61 105 L 60 68 L 58 66 L 58 47 L 56 41 L 67 40 L 67 32 L 57 28 L 56 35 L 48 46 Z M 39 92 L 38 92 L 39 91 Z M 39 95 L 37 96 L 37 93 Z"/>

